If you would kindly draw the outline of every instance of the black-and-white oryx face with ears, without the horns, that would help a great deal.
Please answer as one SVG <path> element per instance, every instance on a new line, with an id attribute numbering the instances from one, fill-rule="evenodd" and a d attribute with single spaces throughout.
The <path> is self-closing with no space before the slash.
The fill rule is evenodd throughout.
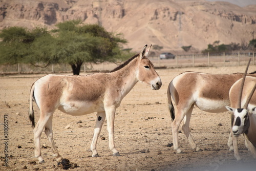
<path id="1" fill-rule="evenodd" d="M 243 133 L 246 133 L 250 127 L 250 119 L 248 110 L 246 109 L 235 109 L 226 106 L 227 110 L 232 112 L 231 116 L 231 129 L 234 137 L 238 137 Z"/>

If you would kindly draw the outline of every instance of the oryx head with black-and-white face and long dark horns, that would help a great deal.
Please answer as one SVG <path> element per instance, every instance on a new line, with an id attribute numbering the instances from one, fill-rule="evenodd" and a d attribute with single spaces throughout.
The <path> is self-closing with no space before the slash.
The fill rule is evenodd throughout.
<path id="1" fill-rule="evenodd" d="M 236 83 L 241 82 L 241 87 L 240 87 L 240 92 L 239 92 L 240 94 L 239 94 L 239 98 L 238 98 L 238 108 L 236 109 L 236 108 L 231 108 L 229 106 L 226 106 L 227 110 L 232 112 L 231 129 L 232 129 L 232 133 L 233 133 L 234 137 L 238 137 L 239 135 L 246 133 L 248 131 L 248 129 L 250 127 L 250 119 L 249 119 L 250 115 L 252 115 L 256 110 L 256 107 L 251 109 L 250 111 L 248 110 L 248 104 L 249 104 L 250 99 L 256 89 L 256 84 L 252 88 L 251 92 L 248 93 L 249 95 L 244 104 L 244 107 L 241 108 L 242 93 L 243 93 L 244 82 L 245 82 L 246 73 L 247 73 L 247 70 L 249 67 L 249 63 L 250 63 L 250 60 L 248 62 L 244 77 L 236 82 Z M 233 86 L 235 86 L 236 83 L 234 83 Z M 246 86 L 248 86 L 248 84 Z M 231 87 L 231 89 L 232 89 L 232 87 Z M 246 97 L 246 96 L 244 96 L 244 97 Z"/>

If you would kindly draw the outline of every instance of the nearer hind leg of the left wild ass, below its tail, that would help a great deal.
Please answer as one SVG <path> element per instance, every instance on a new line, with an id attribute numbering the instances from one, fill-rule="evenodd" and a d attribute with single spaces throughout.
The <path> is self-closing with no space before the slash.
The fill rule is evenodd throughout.
<path id="1" fill-rule="evenodd" d="M 37 122 L 37 124 L 34 127 L 34 141 L 35 141 L 35 157 L 38 159 L 39 163 L 44 163 L 45 160 L 41 156 L 41 149 L 40 149 L 40 137 L 42 134 L 42 131 L 44 130 L 46 123 L 50 119 L 51 114 L 44 115 L 42 112 L 40 114 L 40 118 Z"/>

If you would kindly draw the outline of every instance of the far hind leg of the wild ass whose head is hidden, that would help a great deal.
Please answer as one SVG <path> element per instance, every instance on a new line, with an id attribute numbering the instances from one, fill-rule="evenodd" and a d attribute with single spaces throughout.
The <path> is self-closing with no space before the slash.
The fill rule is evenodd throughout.
<path id="1" fill-rule="evenodd" d="M 191 106 L 191 108 L 188 110 L 186 116 L 184 117 L 184 119 L 183 119 L 184 124 L 182 125 L 182 130 L 183 130 L 185 136 L 187 137 L 187 140 L 188 140 L 189 144 L 191 145 L 192 149 L 194 149 L 196 152 L 201 152 L 202 149 L 197 146 L 197 144 L 195 143 L 192 135 L 190 134 L 190 130 L 189 130 L 189 122 L 190 122 L 193 108 L 194 108 L 194 105 Z"/>

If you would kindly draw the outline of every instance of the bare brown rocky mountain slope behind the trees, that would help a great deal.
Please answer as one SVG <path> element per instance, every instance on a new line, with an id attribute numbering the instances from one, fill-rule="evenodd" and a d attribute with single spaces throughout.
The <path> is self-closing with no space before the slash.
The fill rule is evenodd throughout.
<path id="1" fill-rule="evenodd" d="M 194 51 L 220 44 L 249 42 L 256 37 L 256 5 L 239 7 L 227 2 L 171 0 L 0 0 L 0 29 L 10 26 L 47 26 L 69 19 L 100 23 L 122 33 L 125 48 L 139 51 L 145 44 L 165 51 Z"/>

